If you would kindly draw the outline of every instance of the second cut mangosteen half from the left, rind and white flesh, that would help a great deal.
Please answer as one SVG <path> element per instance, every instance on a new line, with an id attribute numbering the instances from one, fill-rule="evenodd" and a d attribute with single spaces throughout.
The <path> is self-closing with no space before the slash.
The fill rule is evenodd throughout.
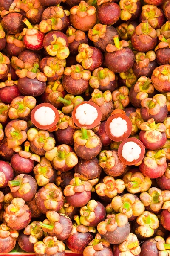
<path id="1" fill-rule="evenodd" d="M 95 128 L 102 119 L 102 112 L 94 102 L 82 102 L 72 112 L 73 121 L 78 127 Z"/>

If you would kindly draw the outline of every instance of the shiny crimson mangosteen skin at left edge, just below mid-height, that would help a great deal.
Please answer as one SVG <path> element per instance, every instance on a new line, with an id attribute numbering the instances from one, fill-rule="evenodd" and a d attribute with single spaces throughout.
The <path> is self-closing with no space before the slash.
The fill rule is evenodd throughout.
<path id="1" fill-rule="evenodd" d="M 5 188 L 8 186 L 8 181 L 13 180 L 14 172 L 10 164 L 6 163 L 5 161 L 0 161 L 0 172 L 3 172 L 5 175 L 5 182 L 2 186 L 0 186 L 0 188 Z"/>

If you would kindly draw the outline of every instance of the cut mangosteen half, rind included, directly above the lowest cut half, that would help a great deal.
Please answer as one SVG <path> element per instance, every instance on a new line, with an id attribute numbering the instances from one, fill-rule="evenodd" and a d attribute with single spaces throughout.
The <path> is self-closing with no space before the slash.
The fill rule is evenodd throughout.
<path id="1" fill-rule="evenodd" d="M 128 116 L 122 113 L 116 113 L 109 116 L 105 125 L 105 131 L 111 140 L 122 141 L 130 136 L 132 122 Z"/>

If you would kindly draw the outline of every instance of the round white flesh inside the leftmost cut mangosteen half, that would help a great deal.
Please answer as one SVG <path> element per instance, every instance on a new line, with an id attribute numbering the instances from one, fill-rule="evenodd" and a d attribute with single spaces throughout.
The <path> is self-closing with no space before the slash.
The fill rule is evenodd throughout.
<path id="1" fill-rule="evenodd" d="M 51 125 L 55 120 L 55 112 L 49 107 L 40 107 L 35 111 L 34 118 L 40 125 Z"/>

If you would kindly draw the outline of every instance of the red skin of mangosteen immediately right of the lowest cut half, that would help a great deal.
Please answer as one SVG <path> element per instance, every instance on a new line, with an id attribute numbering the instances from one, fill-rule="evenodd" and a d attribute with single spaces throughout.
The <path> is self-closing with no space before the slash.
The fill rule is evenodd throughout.
<path id="1" fill-rule="evenodd" d="M 167 163 L 164 163 L 162 165 L 158 165 L 155 169 L 153 168 L 149 168 L 145 163 L 144 160 L 142 161 L 142 163 L 139 165 L 139 170 L 140 172 L 142 172 L 142 174 L 145 177 L 148 177 L 150 179 L 156 179 L 161 177 L 164 172 L 167 169 Z"/>

